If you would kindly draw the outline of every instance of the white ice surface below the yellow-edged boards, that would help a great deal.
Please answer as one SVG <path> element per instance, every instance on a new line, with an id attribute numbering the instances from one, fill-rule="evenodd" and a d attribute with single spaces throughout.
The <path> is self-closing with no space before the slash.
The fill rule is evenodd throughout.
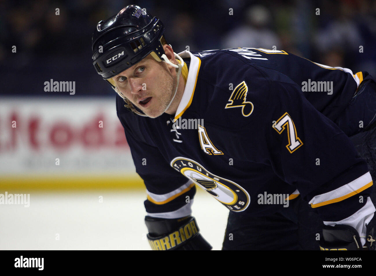
<path id="1" fill-rule="evenodd" d="M 144 191 L 29 193 L 30 207 L 0 205 L 0 250 L 150 250 Z M 221 249 L 228 212 L 197 191 L 193 215 L 213 250 Z"/>

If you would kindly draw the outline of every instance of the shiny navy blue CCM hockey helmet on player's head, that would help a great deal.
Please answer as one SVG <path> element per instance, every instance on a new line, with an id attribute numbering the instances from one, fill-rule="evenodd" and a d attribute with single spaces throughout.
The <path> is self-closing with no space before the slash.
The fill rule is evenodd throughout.
<path id="1" fill-rule="evenodd" d="M 136 5 L 126 6 L 106 21 L 99 21 L 92 37 L 92 59 L 98 74 L 108 80 L 150 53 L 160 61 L 164 54 L 164 29 L 161 20 Z"/>

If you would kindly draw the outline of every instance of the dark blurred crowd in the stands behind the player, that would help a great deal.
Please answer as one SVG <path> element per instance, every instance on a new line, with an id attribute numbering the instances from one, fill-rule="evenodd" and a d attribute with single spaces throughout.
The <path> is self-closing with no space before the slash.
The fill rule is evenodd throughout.
<path id="1" fill-rule="evenodd" d="M 0 94 L 69 95 L 45 92 L 53 79 L 76 81 L 77 95 L 113 95 L 92 66 L 91 36 L 129 4 L 161 18 L 176 53 L 275 48 L 376 77 L 374 0 L 14 0 L 0 1 Z"/>

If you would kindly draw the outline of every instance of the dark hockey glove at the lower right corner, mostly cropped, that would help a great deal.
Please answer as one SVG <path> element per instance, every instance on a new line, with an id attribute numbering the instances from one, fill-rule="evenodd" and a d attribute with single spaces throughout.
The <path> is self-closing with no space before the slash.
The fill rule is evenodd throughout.
<path id="1" fill-rule="evenodd" d="M 362 246 L 358 231 L 349 225 L 326 226 L 323 228 L 323 240 L 320 250 L 375 250 L 375 218 L 368 223 L 365 244 Z"/>

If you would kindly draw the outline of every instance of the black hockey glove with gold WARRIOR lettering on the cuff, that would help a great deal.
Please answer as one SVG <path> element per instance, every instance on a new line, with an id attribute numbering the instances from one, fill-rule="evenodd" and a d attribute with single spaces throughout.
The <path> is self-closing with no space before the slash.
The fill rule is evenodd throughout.
<path id="1" fill-rule="evenodd" d="M 153 250 L 211 250 L 211 245 L 201 236 L 192 216 L 179 219 L 145 217 Z"/>

